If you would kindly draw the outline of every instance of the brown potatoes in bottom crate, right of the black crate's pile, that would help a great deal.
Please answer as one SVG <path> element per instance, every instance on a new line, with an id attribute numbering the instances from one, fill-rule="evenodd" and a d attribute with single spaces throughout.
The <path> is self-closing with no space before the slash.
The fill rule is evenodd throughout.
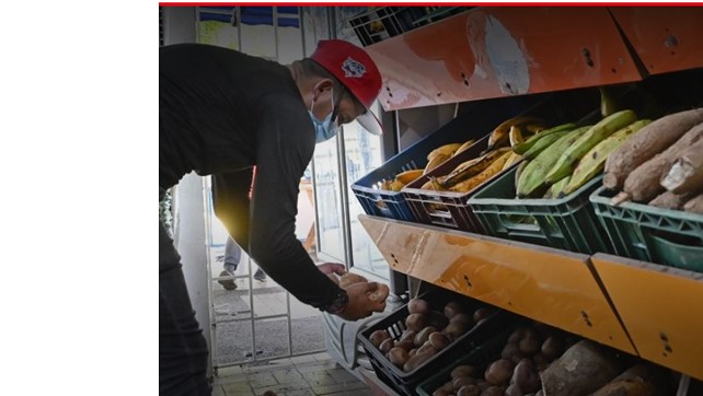
<path id="1" fill-rule="evenodd" d="M 573 336 L 533 322 L 516 328 L 503 347 L 500 359 L 479 366 L 458 365 L 433 396 L 541 395 L 540 372 L 576 341 Z"/>

